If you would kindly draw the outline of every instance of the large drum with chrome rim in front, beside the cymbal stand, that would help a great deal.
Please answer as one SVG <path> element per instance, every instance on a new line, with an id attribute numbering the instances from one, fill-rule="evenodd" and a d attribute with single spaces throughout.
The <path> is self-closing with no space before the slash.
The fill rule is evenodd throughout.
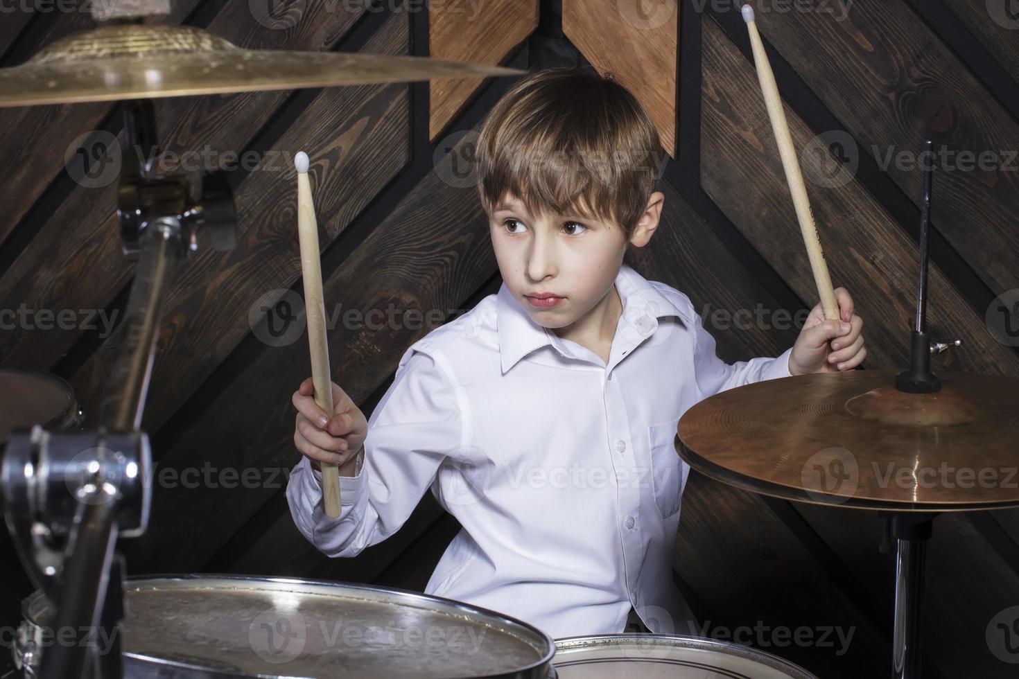
<path id="1" fill-rule="evenodd" d="M 544 632 L 461 602 L 365 584 L 229 575 L 131 578 L 126 679 L 550 676 Z M 52 643 L 42 592 L 15 655 L 34 676 Z M 102 638 L 97 635 L 99 650 Z M 554 674 L 551 674 L 554 676 Z"/>

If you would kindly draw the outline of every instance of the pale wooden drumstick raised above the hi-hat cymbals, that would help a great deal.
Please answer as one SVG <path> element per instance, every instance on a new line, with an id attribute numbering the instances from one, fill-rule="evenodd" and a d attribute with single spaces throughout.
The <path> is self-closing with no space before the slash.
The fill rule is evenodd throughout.
<path id="1" fill-rule="evenodd" d="M 771 72 L 771 64 L 767 59 L 767 53 L 764 52 L 764 44 L 761 43 L 760 34 L 757 33 L 757 23 L 754 21 L 754 8 L 750 5 L 743 5 L 742 11 L 743 20 L 747 22 L 747 29 L 750 31 L 750 45 L 754 51 L 757 79 L 761 83 L 761 94 L 764 96 L 767 114 L 771 119 L 771 129 L 774 131 L 774 139 L 779 143 L 782 166 L 786 170 L 786 181 L 789 183 L 789 191 L 793 194 L 796 217 L 800 222 L 800 232 L 803 234 L 803 242 L 807 246 L 807 257 L 810 259 L 810 269 L 814 273 L 814 284 L 817 286 L 817 294 L 820 296 L 821 307 L 824 309 L 824 318 L 838 321 L 839 301 L 836 299 L 835 291 L 832 289 L 832 278 L 828 276 L 827 263 L 824 262 L 824 252 L 821 250 L 821 243 L 817 239 L 817 226 L 814 224 L 814 213 L 810 209 L 810 201 L 807 199 L 807 187 L 803 184 L 800 162 L 797 160 L 796 149 L 793 147 L 793 136 L 789 133 L 786 112 L 782 108 L 779 86 L 774 81 L 774 73 Z"/>

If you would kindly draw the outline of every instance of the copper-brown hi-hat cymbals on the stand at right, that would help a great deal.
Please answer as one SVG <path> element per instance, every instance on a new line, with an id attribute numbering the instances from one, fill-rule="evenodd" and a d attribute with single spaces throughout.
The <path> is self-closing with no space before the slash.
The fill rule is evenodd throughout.
<path id="1" fill-rule="evenodd" d="M 687 410 L 677 450 L 755 493 L 896 511 L 1019 506 L 1019 381 L 938 373 L 932 394 L 897 370 L 766 380 Z"/>

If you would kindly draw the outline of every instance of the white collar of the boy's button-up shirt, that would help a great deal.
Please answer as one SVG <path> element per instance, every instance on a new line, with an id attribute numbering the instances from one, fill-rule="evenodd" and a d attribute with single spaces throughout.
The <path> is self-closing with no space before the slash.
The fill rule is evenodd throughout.
<path id="1" fill-rule="evenodd" d="M 636 343 L 654 333 L 658 327 L 657 319 L 661 317 L 678 316 L 693 327 L 691 310 L 659 292 L 633 267 L 624 263 L 615 276 L 614 285 L 623 301 L 622 328 L 616 332 L 622 331 Z M 504 282 L 496 294 L 495 315 L 503 374 L 524 356 L 548 344 L 572 355 L 557 335 L 531 320 Z"/>

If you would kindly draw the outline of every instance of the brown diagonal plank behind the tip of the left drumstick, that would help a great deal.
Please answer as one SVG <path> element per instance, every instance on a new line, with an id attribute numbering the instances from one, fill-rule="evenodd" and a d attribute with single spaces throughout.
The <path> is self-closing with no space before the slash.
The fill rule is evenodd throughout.
<path id="1" fill-rule="evenodd" d="M 407 17 L 395 14 L 372 53 L 408 53 Z M 230 252 L 191 258 L 166 300 L 145 427 L 156 431 L 251 330 L 256 304 L 271 308 L 301 275 L 293 156 L 309 152 L 325 248 L 410 160 L 408 87 L 328 88 L 291 124 L 234 196 L 238 242 Z M 275 292 L 274 292 L 275 291 Z M 270 295 L 266 298 L 265 295 Z M 102 397 L 123 327 L 72 377 L 88 411 Z"/>

